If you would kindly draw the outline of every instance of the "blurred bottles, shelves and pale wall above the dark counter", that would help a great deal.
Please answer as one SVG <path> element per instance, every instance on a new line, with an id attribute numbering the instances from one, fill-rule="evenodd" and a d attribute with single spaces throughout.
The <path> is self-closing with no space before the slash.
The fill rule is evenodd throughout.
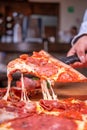
<path id="1" fill-rule="evenodd" d="M 42 42 L 47 38 L 52 43 L 69 43 L 86 8 L 85 0 L 0 0 L 0 41 Z"/>

